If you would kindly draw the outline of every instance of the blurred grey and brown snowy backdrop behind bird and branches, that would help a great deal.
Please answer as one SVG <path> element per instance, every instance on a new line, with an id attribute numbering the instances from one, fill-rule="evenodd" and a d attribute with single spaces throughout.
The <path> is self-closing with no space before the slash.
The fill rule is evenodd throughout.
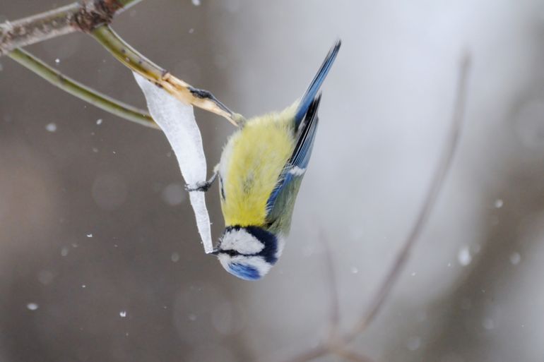
<path id="1" fill-rule="evenodd" d="M 0 21 L 64 4 L 0 0 Z M 375 361 L 542 361 L 542 1 L 148 0 L 113 28 L 246 116 L 300 97 L 343 40 L 290 238 L 266 278 L 230 276 L 203 253 L 160 131 L 2 57 L 1 361 L 285 361 L 329 331 L 326 253 L 348 330 L 420 209 L 467 50 L 454 164 L 393 293 L 352 346 Z M 145 107 L 131 73 L 87 35 L 28 49 Z M 196 116 L 211 169 L 234 128 Z M 214 238 L 218 200 L 214 187 Z"/>

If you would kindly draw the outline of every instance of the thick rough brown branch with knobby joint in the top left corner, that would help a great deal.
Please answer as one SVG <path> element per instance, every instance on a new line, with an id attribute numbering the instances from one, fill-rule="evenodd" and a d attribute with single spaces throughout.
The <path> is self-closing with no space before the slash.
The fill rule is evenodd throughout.
<path id="1" fill-rule="evenodd" d="M 86 0 L 13 22 L 0 23 L 0 56 L 70 32 L 90 32 L 141 0 Z"/>

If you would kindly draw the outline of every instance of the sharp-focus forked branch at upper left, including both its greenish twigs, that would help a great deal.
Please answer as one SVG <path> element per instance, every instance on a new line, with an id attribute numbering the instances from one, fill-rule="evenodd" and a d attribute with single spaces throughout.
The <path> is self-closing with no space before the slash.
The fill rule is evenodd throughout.
<path id="1" fill-rule="evenodd" d="M 43 40 L 68 34 L 69 32 L 87 32 L 95 37 L 122 64 L 164 88 L 182 102 L 192 104 L 206 111 L 225 117 L 235 126 L 244 123 L 244 117 L 235 114 L 211 92 L 192 87 L 183 80 L 172 76 L 160 66 L 146 59 L 129 44 L 126 44 L 109 26 L 113 17 L 137 4 L 141 0 L 86 0 L 81 4 L 71 4 L 35 16 L 0 23 L 0 56 L 16 51 L 18 47 L 34 44 Z M 61 89 L 84 99 L 95 106 L 111 111 L 131 121 L 152 126 L 146 113 L 122 104 L 94 90 L 62 76 L 48 68 L 45 63 L 26 52 L 15 52 L 12 59 L 38 73 Z M 54 72 L 54 73 L 53 73 Z"/>

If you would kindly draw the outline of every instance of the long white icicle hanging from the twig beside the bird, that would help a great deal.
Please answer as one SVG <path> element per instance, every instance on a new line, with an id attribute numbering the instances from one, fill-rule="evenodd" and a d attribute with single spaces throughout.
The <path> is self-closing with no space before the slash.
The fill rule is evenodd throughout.
<path id="1" fill-rule="evenodd" d="M 206 157 L 204 156 L 199 126 L 196 125 L 194 119 L 193 107 L 180 102 L 137 73 L 134 73 L 134 78 L 146 96 L 151 116 L 165 133 L 172 150 L 174 150 L 185 182 L 194 186 L 198 182 L 205 181 Z M 213 243 L 210 217 L 204 193 L 201 191 L 191 192 L 189 200 L 194 210 L 196 227 L 199 229 L 204 251 L 211 253 Z"/>

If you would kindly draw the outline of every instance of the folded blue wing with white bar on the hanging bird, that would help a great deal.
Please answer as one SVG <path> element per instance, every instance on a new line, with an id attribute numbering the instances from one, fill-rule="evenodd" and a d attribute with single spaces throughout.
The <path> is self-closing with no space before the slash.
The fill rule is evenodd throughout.
<path id="1" fill-rule="evenodd" d="M 300 130 L 297 135 L 295 150 L 293 150 L 290 159 L 285 164 L 285 167 L 283 167 L 283 171 L 280 174 L 276 188 L 274 188 L 266 203 L 268 215 L 283 212 L 283 204 L 290 202 L 290 200 L 285 197 L 285 194 L 288 194 L 290 187 L 295 186 L 293 185 L 295 183 L 294 181 L 301 181 L 302 176 L 304 176 L 304 171 L 306 171 L 309 158 L 312 155 L 312 148 L 314 146 L 317 123 L 319 121 L 317 109 L 319 108 L 320 101 L 321 95 L 318 95 L 309 105 L 307 114 L 304 117 L 304 122 L 300 126 Z M 296 191 L 298 190 L 295 190 L 295 192 Z M 279 202 L 279 200 L 281 200 L 282 205 L 278 207 L 276 204 Z M 273 212 L 274 210 L 276 212 Z"/>

